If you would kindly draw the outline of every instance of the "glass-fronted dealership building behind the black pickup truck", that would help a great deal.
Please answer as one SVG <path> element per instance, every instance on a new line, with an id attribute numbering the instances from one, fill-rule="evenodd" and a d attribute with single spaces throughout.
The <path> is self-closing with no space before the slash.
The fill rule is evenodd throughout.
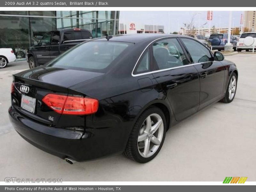
<path id="1" fill-rule="evenodd" d="M 117 34 L 119 11 L 0 11 L 0 21 L 0 47 L 17 52 L 56 29 L 88 29 L 93 37 Z"/>

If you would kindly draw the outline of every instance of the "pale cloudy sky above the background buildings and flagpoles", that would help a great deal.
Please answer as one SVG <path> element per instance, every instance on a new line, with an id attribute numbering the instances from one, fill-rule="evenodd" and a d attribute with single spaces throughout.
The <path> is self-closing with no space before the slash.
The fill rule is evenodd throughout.
<path id="1" fill-rule="evenodd" d="M 183 23 L 189 22 L 194 13 L 197 13 L 194 20 L 194 25 L 197 28 L 207 22 L 204 25 L 205 28 L 209 28 L 209 21 L 207 21 L 207 11 L 120 11 L 120 23 L 139 22 L 145 25 L 164 25 L 165 33 L 177 31 L 178 28 L 183 27 Z M 240 17 L 243 11 L 232 12 L 232 27 L 240 26 Z M 170 15 L 170 26 L 169 16 Z M 228 27 L 229 11 L 213 11 L 213 18 L 211 26 L 215 25 L 217 28 Z"/>

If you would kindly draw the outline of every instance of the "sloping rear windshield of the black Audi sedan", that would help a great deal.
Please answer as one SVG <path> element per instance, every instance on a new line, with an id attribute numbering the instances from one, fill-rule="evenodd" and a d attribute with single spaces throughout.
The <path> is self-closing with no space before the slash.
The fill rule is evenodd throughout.
<path id="1" fill-rule="evenodd" d="M 117 57 L 132 43 L 91 41 L 80 44 L 59 57 L 47 66 L 65 69 L 76 69 L 94 72 L 105 72 Z"/>

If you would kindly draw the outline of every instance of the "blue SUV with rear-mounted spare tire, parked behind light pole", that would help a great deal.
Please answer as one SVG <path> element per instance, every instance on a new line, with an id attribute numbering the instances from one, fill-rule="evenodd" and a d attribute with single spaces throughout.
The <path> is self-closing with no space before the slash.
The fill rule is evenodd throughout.
<path id="1" fill-rule="evenodd" d="M 212 44 L 212 49 L 218 49 L 218 51 L 224 50 L 225 45 L 228 43 L 228 34 L 212 34 L 210 35 L 209 39 L 210 43 Z M 230 43 L 232 45 L 236 45 L 236 39 L 231 35 L 230 36 Z M 233 47 L 234 51 L 236 51 L 236 46 Z"/>

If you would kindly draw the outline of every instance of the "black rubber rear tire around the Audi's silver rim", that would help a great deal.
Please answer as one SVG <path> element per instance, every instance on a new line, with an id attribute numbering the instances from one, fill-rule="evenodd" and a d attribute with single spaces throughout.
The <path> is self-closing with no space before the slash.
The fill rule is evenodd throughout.
<path id="1" fill-rule="evenodd" d="M 161 140 L 161 144 L 159 145 L 157 150 L 153 153 L 153 155 L 151 155 L 149 157 L 143 157 L 143 156 L 140 155 L 140 152 L 139 152 L 138 136 L 139 136 L 139 133 L 142 129 L 142 125 L 144 124 L 146 118 L 148 116 L 152 115 L 152 114 L 158 114 L 159 116 L 161 116 L 161 118 L 163 120 L 163 127 L 164 127 L 163 137 L 162 137 L 162 140 Z M 134 160 L 138 163 L 147 163 L 147 162 L 151 161 L 158 154 L 158 152 L 161 150 L 161 148 L 163 146 L 163 143 L 164 143 L 165 133 L 166 133 L 166 119 L 165 119 L 163 111 L 160 108 L 157 108 L 157 107 L 148 108 L 147 110 L 145 110 L 140 115 L 140 117 L 136 121 L 136 123 L 135 123 L 135 125 L 132 129 L 132 132 L 129 136 L 126 148 L 124 150 L 124 155 L 127 158 L 129 158 L 131 160 Z"/>

